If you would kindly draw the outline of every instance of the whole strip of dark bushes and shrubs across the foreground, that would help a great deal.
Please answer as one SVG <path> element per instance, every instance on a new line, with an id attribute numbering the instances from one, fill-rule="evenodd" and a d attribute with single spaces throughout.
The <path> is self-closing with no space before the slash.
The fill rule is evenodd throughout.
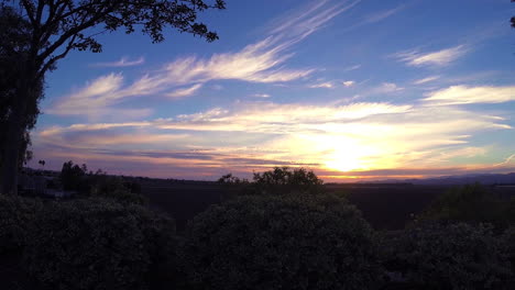
<path id="1" fill-rule="evenodd" d="M 224 176 L 216 185 L 167 180 L 171 188 L 219 192 L 194 204 L 190 210 L 201 212 L 176 231 L 162 211 L 166 204 L 156 207 L 158 200 L 145 193 L 155 180 L 67 163 L 58 181 L 77 193 L 61 200 L 0 196 L 2 289 L 515 285 L 515 200 L 480 185 L 442 191 L 405 227 L 386 231 L 363 217 L 350 186 L 324 186 L 304 169 L 276 168 L 252 181 Z M 354 187 L 373 191 L 371 185 Z"/>

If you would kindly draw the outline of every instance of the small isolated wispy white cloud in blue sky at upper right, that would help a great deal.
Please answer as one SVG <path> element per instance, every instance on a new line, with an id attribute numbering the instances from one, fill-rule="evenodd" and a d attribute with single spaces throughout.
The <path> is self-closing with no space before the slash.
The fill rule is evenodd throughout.
<path id="1" fill-rule="evenodd" d="M 447 66 L 468 52 L 464 45 L 458 45 L 437 52 L 420 53 L 418 49 L 396 53 L 393 56 L 408 66 Z"/>

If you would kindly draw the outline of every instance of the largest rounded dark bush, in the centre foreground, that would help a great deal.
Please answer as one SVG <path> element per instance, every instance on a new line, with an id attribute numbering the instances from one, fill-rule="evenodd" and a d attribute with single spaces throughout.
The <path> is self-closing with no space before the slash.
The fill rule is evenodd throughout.
<path id="1" fill-rule="evenodd" d="M 380 268 L 373 231 L 329 196 L 252 196 L 190 224 L 186 289 L 369 289 Z"/>

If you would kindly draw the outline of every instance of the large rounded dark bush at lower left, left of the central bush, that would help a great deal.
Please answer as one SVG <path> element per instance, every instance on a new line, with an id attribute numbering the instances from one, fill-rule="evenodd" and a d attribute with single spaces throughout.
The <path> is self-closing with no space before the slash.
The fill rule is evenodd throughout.
<path id="1" fill-rule="evenodd" d="M 26 266 L 52 289 L 146 289 L 173 263 L 174 232 L 169 219 L 139 205 L 52 202 L 37 215 Z"/>

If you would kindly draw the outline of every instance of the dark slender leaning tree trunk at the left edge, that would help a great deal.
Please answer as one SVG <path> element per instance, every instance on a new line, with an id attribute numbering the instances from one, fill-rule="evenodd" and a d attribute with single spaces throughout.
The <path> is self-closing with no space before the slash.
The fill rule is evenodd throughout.
<path id="1" fill-rule="evenodd" d="M 29 74 L 31 76 L 32 74 Z M 28 75 L 25 75 L 28 76 Z M 31 80 L 28 77 L 21 80 L 17 89 L 17 97 L 8 120 L 8 131 L 3 147 L 2 191 L 3 194 L 18 194 L 18 169 L 20 146 L 25 130 L 25 113 L 31 99 Z"/>

